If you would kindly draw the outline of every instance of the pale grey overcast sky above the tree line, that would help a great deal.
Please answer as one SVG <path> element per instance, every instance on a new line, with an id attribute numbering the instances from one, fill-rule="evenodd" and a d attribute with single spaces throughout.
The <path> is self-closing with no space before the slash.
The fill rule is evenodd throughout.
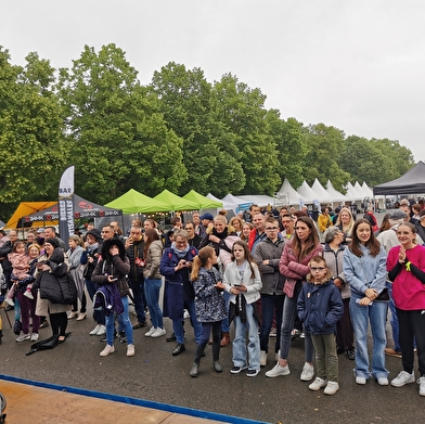
<path id="1" fill-rule="evenodd" d="M 0 46 L 70 67 L 83 46 L 115 43 L 142 83 L 170 61 L 226 73 L 266 107 L 398 140 L 425 160 L 424 0 L 3 0 Z"/>

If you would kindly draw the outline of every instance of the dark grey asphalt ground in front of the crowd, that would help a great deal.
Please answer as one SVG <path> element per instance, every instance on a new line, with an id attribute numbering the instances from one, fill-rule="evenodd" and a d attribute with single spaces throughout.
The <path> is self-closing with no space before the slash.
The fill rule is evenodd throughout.
<path id="1" fill-rule="evenodd" d="M 131 319 L 136 321 L 133 316 Z M 166 319 L 168 334 L 171 333 L 170 324 Z M 417 384 L 395 388 L 381 387 L 369 381 L 365 386 L 358 386 L 352 374 L 353 361 L 345 356 L 339 357 L 339 391 L 335 396 L 310 391 L 308 383 L 299 380 L 304 364 L 302 339 L 293 343 L 288 376 L 265 376 L 265 371 L 274 365 L 271 352 L 268 367 L 258 376 L 232 375 L 229 372 L 232 367 L 231 347 L 228 346 L 221 349 L 223 373 L 214 372 L 208 347 L 199 376 L 192 378 L 189 370 L 195 343 L 188 320 L 186 351 L 179 357 L 171 356 L 173 343 L 166 343 L 165 337 L 144 337 L 146 329 L 141 329 L 134 331 L 134 357 L 127 358 L 126 346 L 116 341 L 115 354 L 101 358 L 99 352 L 103 344 L 99 337 L 89 335 L 93 326 L 91 319 L 72 320 L 68 330 L 73 334 L 64 344 L 27 357 L 25 354 L 30 342 L 15 343 L 16 336 L 3 317 L 0 373 L 268 423 L 418 423 L 425 416 L 425 398 L 418 395 Z M 40 330 L 41 338 L 50 334 L 50 327 Z M 272 346 L 274 339 L 270 342 Z M 395 377 L 401 370 L 401 360 L 387 358 L 387 369 L 390 377 Z M 23 408 L 27 407 L 30 408 L 23 399 Z"/>

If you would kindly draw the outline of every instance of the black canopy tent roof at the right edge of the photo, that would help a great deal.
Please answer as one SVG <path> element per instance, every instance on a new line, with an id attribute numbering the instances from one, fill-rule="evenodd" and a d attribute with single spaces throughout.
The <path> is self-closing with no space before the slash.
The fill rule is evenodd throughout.
<path id="1" fill-rule="evenodd" d="M 425 193 L 425 164 L 420 160 L 401 177 L 373 188 L 373 195 L 423 194 Z"/>

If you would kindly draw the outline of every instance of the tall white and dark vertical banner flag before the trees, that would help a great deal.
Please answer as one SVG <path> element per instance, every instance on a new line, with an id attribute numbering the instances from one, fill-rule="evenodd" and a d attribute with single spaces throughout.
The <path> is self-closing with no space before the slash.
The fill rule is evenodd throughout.
<path id="1" fill-rule="evenodd" d="M 59 232 L 66 246 L 74 234 L 74 169 L 65 169 L 59 184 Z"/>

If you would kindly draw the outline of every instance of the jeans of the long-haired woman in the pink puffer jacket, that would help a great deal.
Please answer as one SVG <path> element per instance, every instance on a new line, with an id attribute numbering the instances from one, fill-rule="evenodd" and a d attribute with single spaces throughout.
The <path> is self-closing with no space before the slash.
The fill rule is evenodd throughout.
<path id="1" fill-rule="evenodd" d="M 297 314 L 297 299 L 298 295 L 294 294 L 294 297 L 285 296 L 283 301 L 283 313 L 282 313 L 282 329 L 281 329 L 281 359 L 287 359 L 289 356 L 289 348 L 292 343 L 292 331 L 294 329 L 295 317 Z M 314 355 L 314 346 L 311 341 L 310 332 L 304 332 L 306 338 L 304 339 L 305 346 L 305 361 L 312 362 Z"/>

